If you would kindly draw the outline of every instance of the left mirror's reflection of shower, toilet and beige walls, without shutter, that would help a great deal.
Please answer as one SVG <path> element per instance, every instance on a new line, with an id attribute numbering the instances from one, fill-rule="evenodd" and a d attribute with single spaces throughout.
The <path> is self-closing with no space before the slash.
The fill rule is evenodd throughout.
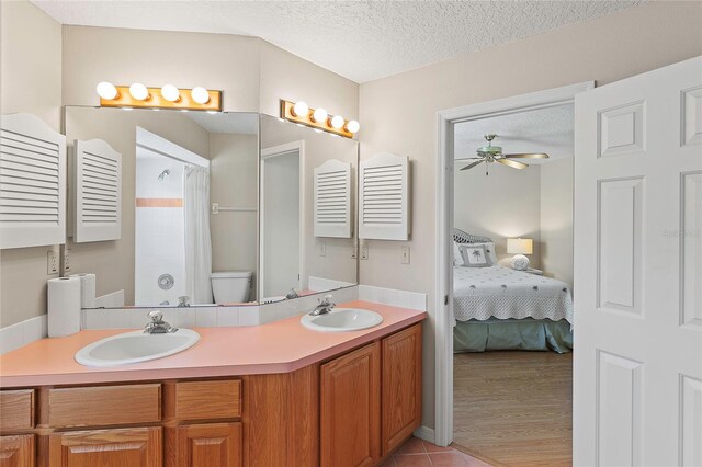
<path id="1" fill-rule="evenodd" d="M 122 238 L 69 243 L 107 306 L 257 299 L 258 114 L 66 107 L 69 140 L 122 155 Z M 105 300 L 103 300 L 105 303 Z"/>

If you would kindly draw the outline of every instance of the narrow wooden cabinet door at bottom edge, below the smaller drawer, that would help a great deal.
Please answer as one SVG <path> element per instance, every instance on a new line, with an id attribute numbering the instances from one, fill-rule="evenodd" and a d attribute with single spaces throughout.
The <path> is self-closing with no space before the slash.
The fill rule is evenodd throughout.
<path id="1" fill-rule="evenodd" d="M 241 423 L 207 423 L 169 429 L 168 467 L 241 466 Z"/>

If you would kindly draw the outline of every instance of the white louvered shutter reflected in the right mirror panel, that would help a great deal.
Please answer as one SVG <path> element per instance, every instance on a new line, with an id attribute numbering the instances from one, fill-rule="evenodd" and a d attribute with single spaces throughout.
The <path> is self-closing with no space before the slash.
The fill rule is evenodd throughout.
<path id="1" fill-rule="evenodd" d="M 331 159 L 315 169 L 315 237 L 351 238 L 351 164 Z"/>

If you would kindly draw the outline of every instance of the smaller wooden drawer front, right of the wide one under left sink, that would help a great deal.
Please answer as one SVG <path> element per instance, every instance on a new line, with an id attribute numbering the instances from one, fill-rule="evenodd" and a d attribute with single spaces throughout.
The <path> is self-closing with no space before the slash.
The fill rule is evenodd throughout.
<path id="1" fill-rule="evenodd" d="M 241 381 L 180 381 L 166 386 L 167 411 L 179 420 L 241 417 Z"/>

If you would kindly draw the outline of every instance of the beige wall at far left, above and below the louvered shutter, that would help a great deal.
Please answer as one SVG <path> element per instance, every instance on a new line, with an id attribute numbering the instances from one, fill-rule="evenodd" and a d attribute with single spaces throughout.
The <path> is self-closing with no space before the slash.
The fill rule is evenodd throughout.
<path id="1" fill-rule="evenodd" d="M 0 114 L 32 113 L 57 132 L 61 122 L 61 26 L 30 2 L 0 2 Z M 0 327 L 46 312 L 46 253 L 0 252 Z"/>

